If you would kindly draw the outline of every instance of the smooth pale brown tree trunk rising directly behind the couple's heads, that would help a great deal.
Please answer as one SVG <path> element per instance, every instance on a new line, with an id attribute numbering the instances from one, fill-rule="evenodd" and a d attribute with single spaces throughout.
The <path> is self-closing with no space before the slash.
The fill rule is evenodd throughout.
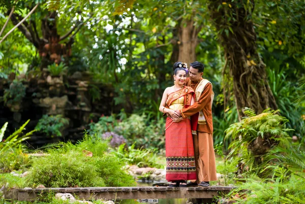
<path id="1" fill-rule="evenodd" d="M 190 20 L 183 19 L 180 21 L 179 26 L 179 55 L 178 61 L 186 62 L 190 64 L 193 61 L 196 61 L 196 46 L 198 42 L 198 32 L 200 31 L 201 26 L 195 26 L 193 18 Z"/>

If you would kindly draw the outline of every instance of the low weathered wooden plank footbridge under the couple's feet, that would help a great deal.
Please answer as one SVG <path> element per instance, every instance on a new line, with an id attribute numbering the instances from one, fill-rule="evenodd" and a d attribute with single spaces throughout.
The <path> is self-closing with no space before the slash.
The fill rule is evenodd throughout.
<path id="1" fill-rule="evenodd" d="M 47 193 L 71 193 L 80 199 L 170 199 L 170 198 L 213 198 L 228 193 L 232 187 L 87 187 L 87 188 L 35 188 L 11 189 L 7 199 L 20 201 L 36 200 Z"/>

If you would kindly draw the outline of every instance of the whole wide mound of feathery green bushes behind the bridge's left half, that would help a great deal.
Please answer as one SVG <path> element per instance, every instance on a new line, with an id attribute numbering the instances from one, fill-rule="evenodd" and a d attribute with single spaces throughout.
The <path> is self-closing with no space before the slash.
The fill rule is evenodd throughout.
<path id="1" fill-rule="evenodd" d="M 62 143 L 49 149 L 47 156 L 34 160 L 26 185 L 46 187 L 85 186 L 133 186 L 119 161 L 105 151 L 108 141 L 85 134 L 84 140 L 76 145 Z M 92 157 L 91 157 L 92 154 Z"/>

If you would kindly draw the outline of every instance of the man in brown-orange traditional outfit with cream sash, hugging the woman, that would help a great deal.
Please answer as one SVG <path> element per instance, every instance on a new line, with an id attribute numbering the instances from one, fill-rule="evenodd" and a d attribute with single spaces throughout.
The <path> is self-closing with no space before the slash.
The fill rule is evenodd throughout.
<path id="1" fill-rule="evenodd" d="M 214 92 L 212 84 L 202 78 L 204 65 L 195 61 L 190 64 L 189 78 L 186 85 L 195 90 L 195 103 L 177 113 L 182 118 L 187 118 L 198 114 L 197 131 L 193 131 L 194 153 L 196 161 L 197 183 L 189 183 L 188 186 L 207 187 L 209 181 L 216 181 L 216 162 L 213 146 L 213 121 L 212 121 L 212 103 Z M 195 124 L 196 125 L 196 124 Z"/>

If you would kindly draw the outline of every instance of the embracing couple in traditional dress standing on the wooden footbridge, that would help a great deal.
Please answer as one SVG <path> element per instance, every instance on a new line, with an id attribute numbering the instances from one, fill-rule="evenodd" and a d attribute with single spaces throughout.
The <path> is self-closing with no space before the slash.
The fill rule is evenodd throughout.
<path id="1" fill-rule="evenodd" d="M 209 186 L 217 180 L 213 147 L 212 84 L 202 78 L 204 65 L 175 62 L 174 85 L 163 93 L 159 110 L 165 126 L 166 180 L 169 187 Z M 189 74 L 189 78 L 187 78 Z M 187 180 L 190 181 L 188 184 Z M 196 181 L 194 181 L 196 180 Z"/>

